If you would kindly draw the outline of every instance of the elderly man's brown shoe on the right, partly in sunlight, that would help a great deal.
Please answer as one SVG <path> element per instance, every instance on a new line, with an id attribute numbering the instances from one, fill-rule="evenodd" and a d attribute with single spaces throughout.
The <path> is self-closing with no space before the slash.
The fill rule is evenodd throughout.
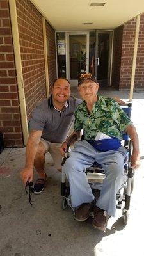
<path id="1" fill-rule="evenodd" d="M 106 216 L 106 211 L 95 206 L 93 209 L 93 228 L 97 228 L 102 231 L 106 231 L 108 218 Z"/>

